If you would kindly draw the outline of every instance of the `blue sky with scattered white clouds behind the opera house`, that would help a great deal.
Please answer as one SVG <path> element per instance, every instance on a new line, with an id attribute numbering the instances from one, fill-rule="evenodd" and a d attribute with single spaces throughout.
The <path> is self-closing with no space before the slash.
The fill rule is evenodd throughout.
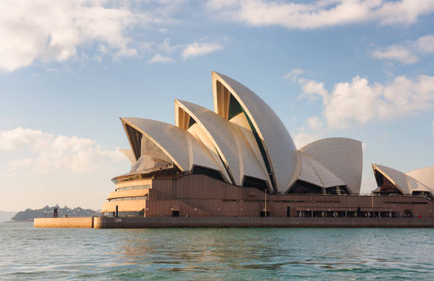
<path id="1" fill-rule="evenodd" d="M 0 209 L 100 209 L 127 172 L 120 116 L 212 109 L 211 70 L 296 145 L 343 136 L 372 162 L 433 165 L 434 1 L 1 1 Z"/>

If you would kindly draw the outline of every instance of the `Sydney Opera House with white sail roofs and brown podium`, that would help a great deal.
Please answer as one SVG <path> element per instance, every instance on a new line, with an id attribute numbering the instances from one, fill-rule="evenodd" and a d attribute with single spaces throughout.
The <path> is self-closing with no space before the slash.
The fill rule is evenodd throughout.
<path id="1" fill-rule="evenodd" d="M 434 167 L 372 165 L 360 194 L 362 143 L 296 148 L 284 123 L 243 84 L 212 72 L 213 111 L 174 101 L 174 125 L 121 118 L 131 170 L 113 178 L 104 216 L 430 217 Z"/>

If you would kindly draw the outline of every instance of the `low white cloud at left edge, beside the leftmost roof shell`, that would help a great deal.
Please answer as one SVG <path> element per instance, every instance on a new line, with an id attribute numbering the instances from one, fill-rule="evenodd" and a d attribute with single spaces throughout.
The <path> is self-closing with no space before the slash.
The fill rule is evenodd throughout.
<path id="1" fill-rule="evenodd" d="M 9 172 L 87 172 L 123 159 L 118 148 L 105 150 L 89 138 L 53 136 L 21 127 L 0 132 L 1 150 L 25 155 L 7 164 Z"/>

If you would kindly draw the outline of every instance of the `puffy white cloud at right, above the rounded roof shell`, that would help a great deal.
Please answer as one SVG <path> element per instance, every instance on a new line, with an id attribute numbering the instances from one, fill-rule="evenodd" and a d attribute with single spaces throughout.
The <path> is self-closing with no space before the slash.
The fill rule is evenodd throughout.
<path id="1" fill-rule="evenodd" d="M 347 128 L 352 123 L 364 124 L 372 119 L 394 119 L 434 109 L 434 77 L 420 75 L 417 79 L 399 76 L 387 84 L 369 84 L 356 76 L 351 82 L 335 84 L 333 91 L 323 83 L 299 79 L 304 93 L 301 97 L 319 96 L 323 116 L 331 128 Z"/>

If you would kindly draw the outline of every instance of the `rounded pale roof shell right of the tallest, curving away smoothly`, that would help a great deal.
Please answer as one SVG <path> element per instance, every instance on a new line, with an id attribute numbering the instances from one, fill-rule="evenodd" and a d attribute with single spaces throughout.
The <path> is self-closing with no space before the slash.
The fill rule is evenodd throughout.
<path id="1" fill-rule="evenodd" d="M 362 183 L 362 143 L 350 138 L 324 138 L 300 149 L 321 163 L 348 187 L 351 194 L 360 193 Z"/>

